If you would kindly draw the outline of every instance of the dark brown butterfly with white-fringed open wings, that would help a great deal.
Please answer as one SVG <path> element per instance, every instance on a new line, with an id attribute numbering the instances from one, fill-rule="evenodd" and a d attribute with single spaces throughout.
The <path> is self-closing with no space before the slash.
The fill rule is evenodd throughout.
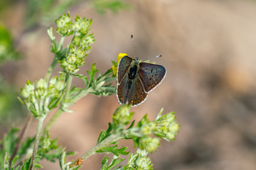
<path id="1" fill-rule="evenodd" d="M 157 56 L 161 57 L 161 55 Z M 137 58 L 122 57 L 117 66 L 117 99 L 132 107 L 143 103 L 149 92 L 161 84 L 166 69 L 158 64 L 140 62 Z"/>

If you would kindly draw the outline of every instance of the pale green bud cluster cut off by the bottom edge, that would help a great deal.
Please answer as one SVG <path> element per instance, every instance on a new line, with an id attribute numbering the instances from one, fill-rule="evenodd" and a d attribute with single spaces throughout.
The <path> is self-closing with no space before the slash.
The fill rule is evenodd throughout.
<path id="1" fill-rule="evenodd" d="M 137 149 L 135 154 L 131 154 L 124 170 L 151 170 L 153 169 L 151 159 L 146 157 L 146 150 Z"/>

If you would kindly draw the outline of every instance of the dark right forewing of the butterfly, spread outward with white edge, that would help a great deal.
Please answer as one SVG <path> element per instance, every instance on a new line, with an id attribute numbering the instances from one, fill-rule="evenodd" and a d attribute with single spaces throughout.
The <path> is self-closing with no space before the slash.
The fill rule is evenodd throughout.
<path id="1" fill-rule="evenodd" d="M 141 79 L 146 93 L 152 91 L 156 86 L 161 84 L 165 75 L 166 69 L 158 64 L 151 64 L 147 62 L 139 63 L 138 71 L 139 79 Z"/>

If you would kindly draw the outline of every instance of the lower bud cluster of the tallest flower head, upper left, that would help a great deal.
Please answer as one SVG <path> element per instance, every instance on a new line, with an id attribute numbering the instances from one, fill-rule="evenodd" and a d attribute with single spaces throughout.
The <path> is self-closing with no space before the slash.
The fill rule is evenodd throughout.
<path id="1" fill-rule="evenodd" d="M 78 72 L 79 67 L 85 64 L 85 57 L 87 53 L 82 50 L 82 47 L 76 49 L 74 45 L 69 46 L 69 52 L 65 55 L 63 60 L 60 60 L 61 66 L 64 72 L 68 74 L 75 74 Z"/>

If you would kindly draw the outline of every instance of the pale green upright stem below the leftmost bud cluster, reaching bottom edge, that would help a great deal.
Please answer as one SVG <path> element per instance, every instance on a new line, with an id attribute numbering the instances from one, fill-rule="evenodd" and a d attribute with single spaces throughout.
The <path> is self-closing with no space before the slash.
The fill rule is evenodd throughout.
<path id="1" fill-rule="evenodd" d="M 38 121 L 38 130 L 36 132 L 36 140 L 35 140 L 35 144 L 34 144 L 34 147 L 33 147 L 33 154 L 32 154 L 32 157 L 31 157 L 31 164 L 29 166 L 29 170 L 33 170 L 34 162 L 35 162 L 35 159 L 36 159 L 36 152 L 38 150 L 38 145 L 39 145 L 39 141 L 40 141 L 40 137 L 41 137 L 41 131 L 42 131 L 42 128 L 43 128 L 43 120 L 45 118 L 46 117 L 43 116 L 43 117 L 39 118 L 39 121 Z"/>

